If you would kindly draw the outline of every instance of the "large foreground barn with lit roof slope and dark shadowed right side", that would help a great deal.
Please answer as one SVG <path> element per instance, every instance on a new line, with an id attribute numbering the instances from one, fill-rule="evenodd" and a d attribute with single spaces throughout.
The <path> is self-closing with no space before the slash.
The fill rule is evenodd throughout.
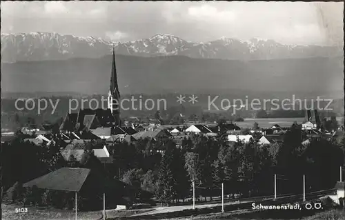
<path id="1" fill-rule="evenodd" d="M 72 192 L 72 198 L 76 199 L 76 206 L 79 199 L 85 199 L 85 207 L 102 207 L 102 194 L 104 193 L 108 206 L 124 205 L 130 206 L 135 199 L 137 189 L 118 181 L 106 179 L 99 172 L 87 168 L 60 168 L 41 177 L 23 184 L 24 188 L 36 187 L 38 190 L 54 190 L 55 192 Z M 95 201 L 99 198 L 99 201 Z M 126 199 L 125 199 L 126 198 Z M 77 212 L 76 212 L 77 214 Z"/>

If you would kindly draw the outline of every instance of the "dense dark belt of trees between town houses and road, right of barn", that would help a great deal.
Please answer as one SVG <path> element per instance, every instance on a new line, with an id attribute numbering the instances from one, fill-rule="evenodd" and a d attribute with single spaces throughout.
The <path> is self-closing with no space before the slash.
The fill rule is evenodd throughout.
<path id="1" fill-rule="evenodd" d="M 264 146 L 255 140 L 229 145 L 224 136 L 195 136 L 185 139 L 181 148 L 160 141 L 124 143 L 128 151 L 114 155 L 122 159 L 117 166 L 124 170 L 123 181 L 155 192 L 162 203 L 190 198 L 193 182 L 204 197 L 219 196 L 221 183 L 232 197 L 273 194 L 274 174 L 284 175 L 279 193 L 302 192 L 303 174 L 308 190 L 333 188 L 344 156 L 341 144 L 324 139 L 302 145 L 299 129 L 290 130 L 284 143 Z M 163 155 L 158 152 L 162 145 Z"/>

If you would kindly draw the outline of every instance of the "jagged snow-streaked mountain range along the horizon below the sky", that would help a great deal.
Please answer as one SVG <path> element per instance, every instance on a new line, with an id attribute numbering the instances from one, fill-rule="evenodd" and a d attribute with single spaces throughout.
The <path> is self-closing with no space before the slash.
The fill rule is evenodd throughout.
<path id="1" fill-rule="evenodd" d="M 205 59 L 288 59 L 342 56 L 342 48 L 331 46 L 291 46 L 273 40 L 250 39 L 240 41 L 221 37 L 206 43 L 185 41 L 171 34 L 156 34 L 149 39 L 113 42 L 95 37 L 31 32 L 1 33 L 1 61 L 41 61 L 76 57 L 97 58 L 110 54 L 141 57 L 180 55 Z"/>

